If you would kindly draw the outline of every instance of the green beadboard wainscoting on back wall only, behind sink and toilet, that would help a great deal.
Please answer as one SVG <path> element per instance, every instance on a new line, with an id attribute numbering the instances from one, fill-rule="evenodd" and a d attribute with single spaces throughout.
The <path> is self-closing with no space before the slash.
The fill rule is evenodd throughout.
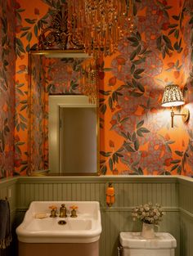
<path id="1" fill-rule="evenodd" d="M 115 204 L 105 204 L 105 189 L 113 182 Z M 101 256 L 117 255 L 120 231 L 139 231 L 132 222 L 133 206 L 159 202 L 167 215 L 160 231 L 173 234 L 179 244 L 179 210 L 177 207 L 177 179 L 173 177 L 20 177 L 17 183 L 17 209 L 29 207 L 33 200 L 97 200 L 101 204 Z M 179 255 L 179 254 L 177 254 Z"/>

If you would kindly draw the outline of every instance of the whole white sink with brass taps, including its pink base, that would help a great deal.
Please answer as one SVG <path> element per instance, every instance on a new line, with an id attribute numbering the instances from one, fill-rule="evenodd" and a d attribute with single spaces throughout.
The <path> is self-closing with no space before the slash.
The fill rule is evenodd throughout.
<path id="1" fill-rule="evenodd" d="M 61 204 L 65 204 L 67 218 L 60 218 L 58 215 L 56 218 L 50 218 L 49 206 L 53 204 L 56 205 L 58 212 Z M 78 206 L 77 218 L 70 217 L 71 205 Z M 37 215 L 45 218 L 36 218 Z M 61 220 L 65 220 L 66 223 L 60 225 L 58 222 Z M 24 221 L 16 228 L 16 234 L 19 240 L 19 256 L 30 256 L 31 249 L 32 255 L 54 255 L 51 253 L 52 248 L 57 251 L 60 248 L 61 251 L 69 249 L 69 253 L 66 254 L 68 256 L 78 255 L 77 252 L 82 255 L 81 251 L 85 252 L 85 246 L 91 248 L 88 249 L 88 254 L 83 254 L 84 256 L 97 256 L 101 236 L 100 205 L 96 201 L 34 201 L 29 205 Z M 47 245 L 47 252 L 43 245 Z M 34 252 L 36 247 L 37 251 Z M 90 251 L 94 254 L 89 253 Z"/>

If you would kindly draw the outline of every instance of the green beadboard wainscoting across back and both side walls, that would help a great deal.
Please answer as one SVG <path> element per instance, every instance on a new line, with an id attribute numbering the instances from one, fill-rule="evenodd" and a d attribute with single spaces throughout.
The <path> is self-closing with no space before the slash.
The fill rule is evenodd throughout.
<path id="1" fill-rule="evenodd" d="M 113 182 L 115 203 L 105 204 L 105 189 Z M 11 190 L 11 197 L 9 193 Z M 100 256 L 116 256 L 120 231 L 140 231 L 132 222 L 133 206 L 159 203 L 166 215 L 159 231 L 177 239 L 176 256 L 192 256 L 193 179 L 181 176 L 14 177 L 0 182 L 0 195 L 8 197 L 18 225 L 34 200 L 97 200 L 101 204 Z"/>

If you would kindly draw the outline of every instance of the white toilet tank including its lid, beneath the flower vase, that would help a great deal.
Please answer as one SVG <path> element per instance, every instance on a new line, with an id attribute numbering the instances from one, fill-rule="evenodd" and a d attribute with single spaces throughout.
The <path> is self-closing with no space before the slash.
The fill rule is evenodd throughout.
<path id="1" fill-rule="evenodd" d="M 139 232 L 121 232 L 119 241 L 123 256 L 175 256 L 177 241 L 169 233 L 155 233 L 155 238 L 145 239 Z"/>

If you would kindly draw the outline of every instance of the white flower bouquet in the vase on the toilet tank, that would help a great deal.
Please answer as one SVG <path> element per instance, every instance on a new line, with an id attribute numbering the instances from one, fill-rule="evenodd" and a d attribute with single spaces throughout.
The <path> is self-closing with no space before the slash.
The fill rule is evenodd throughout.
<path id="1" fill-rule="evenodd" d="M 141 204 L 132 209 L 132 220 L 139 219 L 147 224 L 159 225 L 164 214 L 160 204 L 155 204 L 155 206 L 152 203 Z"/>

